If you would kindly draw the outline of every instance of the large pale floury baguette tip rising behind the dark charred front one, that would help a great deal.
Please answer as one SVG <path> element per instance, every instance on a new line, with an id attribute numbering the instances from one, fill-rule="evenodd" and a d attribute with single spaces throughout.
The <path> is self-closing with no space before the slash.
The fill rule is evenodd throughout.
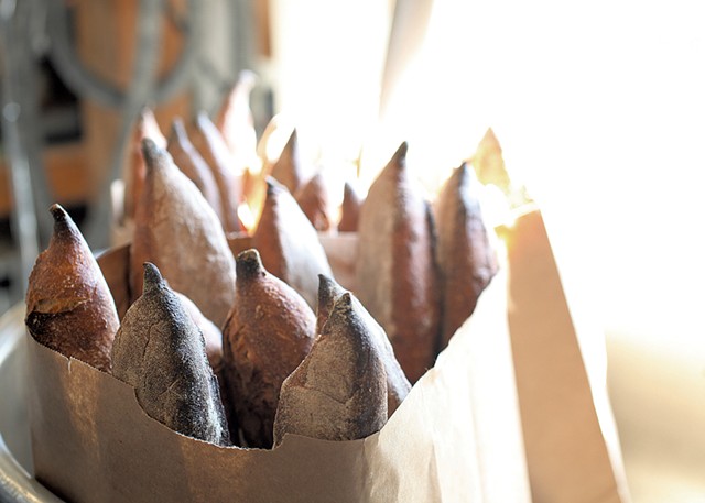
<path id="1" fill-rule="evenodd" d="M 130 249 L 132 300 L 142 264 L 152 262 L 172 288 L 221 327 L 235 299 L 235 259 L 218 217 L 171 155 L 144 141 L 148 173 Z"/>

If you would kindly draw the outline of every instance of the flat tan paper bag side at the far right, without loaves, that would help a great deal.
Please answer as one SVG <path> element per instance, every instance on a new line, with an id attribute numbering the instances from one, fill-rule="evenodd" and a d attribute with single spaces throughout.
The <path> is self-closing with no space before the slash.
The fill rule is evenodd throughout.
<path id="1" fill-rule="evenodd" d="M 605 368 L 581 345 L 541 214 L 518 218 L 506 241 L 508 319 L 533 501 L 628 502 Z M 601 341 L 604 353 L 604 336 L 586 336 Z"/>

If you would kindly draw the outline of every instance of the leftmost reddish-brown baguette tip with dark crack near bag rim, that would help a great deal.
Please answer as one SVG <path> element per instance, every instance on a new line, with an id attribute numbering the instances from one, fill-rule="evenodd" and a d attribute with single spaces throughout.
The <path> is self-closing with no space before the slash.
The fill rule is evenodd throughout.
<path id="1" fill-rule="evenodd" d="M 68 214 L 52 206 L 54 233 L 36 259 L 26 292 L 25 325 L 40 343 L 110 372 L 119 320 L 105 277 Z"/>

